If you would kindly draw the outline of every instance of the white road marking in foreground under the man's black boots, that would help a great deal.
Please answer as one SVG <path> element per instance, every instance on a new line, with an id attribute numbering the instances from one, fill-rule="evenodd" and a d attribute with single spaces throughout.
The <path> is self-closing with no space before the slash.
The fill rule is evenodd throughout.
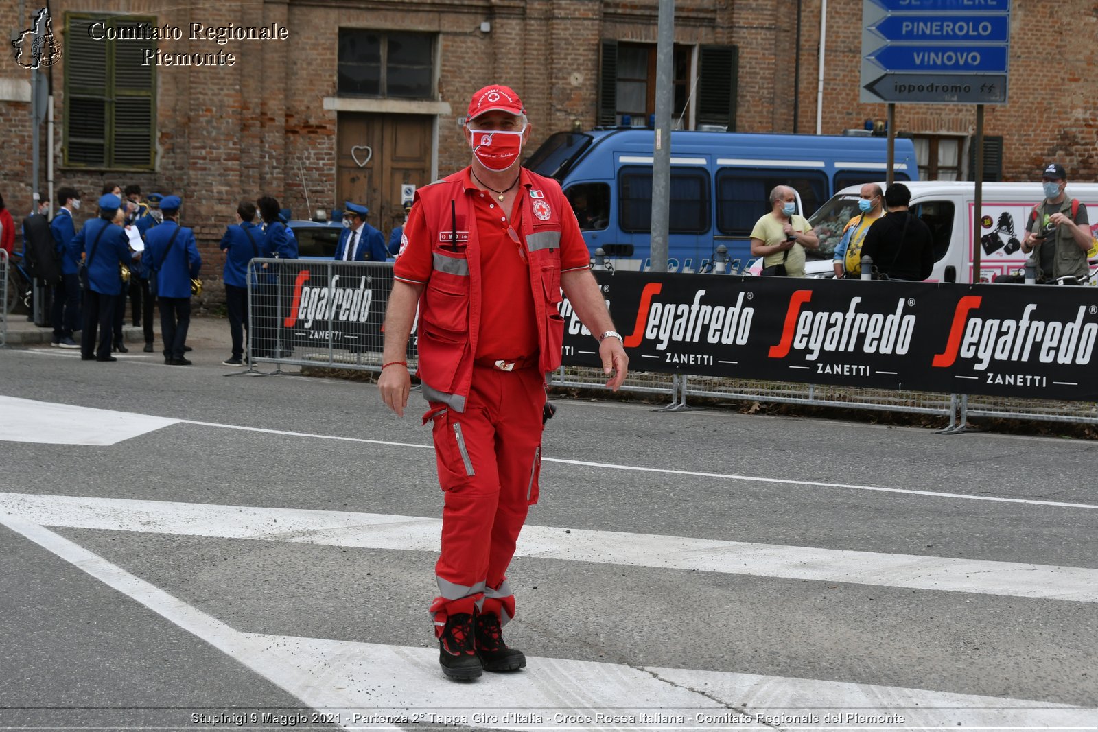
<path id="1" fill-rule="evenodd" d="M 796 723 L 798 729 L 865 727 L 853 720 L 825 722 L 827 714 L 900 718 L 892 723 L 871 723 L 893 729 L 1049 729 L 1094 722 L 1094 708 L 1067 705 L 533 656 L 523 672 L 485 674 L 474 684 L 453 684 L 441 677 L 434 649 L 244 633 L 48 529 L 11 516 L 0 515 L 0 522 L 228 654 L 305 705 L 332 714 L 344 728 L 399 729 L 399 724 L 413 723 L 414 714 L 418 714 L 416 724 L 508 730 L 772 730 L 795 724 L 781 721 L 782 714 L 816 716 L 819 720 Z M 565 714 L 572 719 L 559 719 Z M 365 716 L 372 719 L 363 722 L 360 718 Z M 378 721 L 382 717 L 408 721 L 386 724 Z"/>

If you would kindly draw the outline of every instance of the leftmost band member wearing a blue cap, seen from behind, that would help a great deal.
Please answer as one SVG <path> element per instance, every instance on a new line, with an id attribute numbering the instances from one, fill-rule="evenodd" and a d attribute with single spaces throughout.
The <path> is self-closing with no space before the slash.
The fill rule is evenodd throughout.
<path id="1" fill-rule="evenodd" d="M 83 259 L 87 281 L 83 289 L 83 334 L 80 338 L 80 357 L 85 361 L 116 361 L 111 356 L 114 307 L 122 294 L 119 264 L 133 260 L 126 232 L 112 219 L 122 205 L 122 199 L 105 193 L 99 199 L 99 217 L 92 218 L 72 237 L 69 254 L 72 259 Z M 96 328 L 99 345 L 96 345 Z"/>

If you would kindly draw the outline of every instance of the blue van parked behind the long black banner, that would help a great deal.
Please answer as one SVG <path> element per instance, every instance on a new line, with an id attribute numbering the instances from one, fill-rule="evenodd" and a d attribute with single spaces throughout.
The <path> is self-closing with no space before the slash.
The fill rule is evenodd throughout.
<path id="1" fill-rule="evenodd" d="M 601 248 L 615 269 L 651 264 L 653 140 L 651 129 L 560 132 L 525 162 L 560 181 L 589 250 Z M 725 245 L 729 271 L 741 271 L 775 185 L 796 190 L 797 213 L 808 216 L 836 191 L 885 178 L 886 145 L 884 137 L 672 132 L 668 270 L 705 271 Z M 896 138 L 893 169 L 897 181 L 918 180 L 910 139 Z"/>

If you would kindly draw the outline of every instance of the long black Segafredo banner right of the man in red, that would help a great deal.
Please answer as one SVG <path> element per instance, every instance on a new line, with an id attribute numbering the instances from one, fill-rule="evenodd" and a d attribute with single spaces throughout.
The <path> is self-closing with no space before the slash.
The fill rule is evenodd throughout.
<path id="1" fill-rule="evenodd" d="M 650 272 L 596 278 L 635 371 L 1098 401 L 1098 293 Z M 597 365 L 565 301 L 564 363 Z"/>

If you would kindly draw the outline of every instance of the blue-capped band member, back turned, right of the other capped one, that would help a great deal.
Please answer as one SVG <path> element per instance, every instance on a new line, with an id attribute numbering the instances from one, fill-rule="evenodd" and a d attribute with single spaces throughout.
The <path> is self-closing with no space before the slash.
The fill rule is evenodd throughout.
<path id="1" fill-rule="evenodd" d="M 191 278 L 197 278 L 202 268 L 194 232 L 177 221 L 181 204 L 178 195 L 160 201 L 164 223 L 145 235 L 145 262 L 149 268 L 149 286 L 156 291 L 160 306 L 164 362 L 168 365 L 191 364 L 183 358 L 191 325 Z"/>

